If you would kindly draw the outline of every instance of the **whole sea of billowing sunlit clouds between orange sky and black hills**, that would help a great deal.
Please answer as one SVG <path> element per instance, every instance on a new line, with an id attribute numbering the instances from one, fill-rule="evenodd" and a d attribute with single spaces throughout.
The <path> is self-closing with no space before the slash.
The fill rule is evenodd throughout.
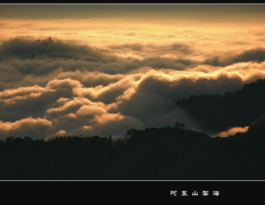
<path id="1" fill-rule="evenodd" d="M 16 37 L 0 44 L 0 139 L 123 136 L 130 128 L 176 122 L 201 130 L 203 122 L 177 100 L 224 94 L 265 78 L 263 47 L 214 57 L 180 41 L 97 48 L 36 40 Z M 203 60 L 192 60 L 200 52 Z"/>

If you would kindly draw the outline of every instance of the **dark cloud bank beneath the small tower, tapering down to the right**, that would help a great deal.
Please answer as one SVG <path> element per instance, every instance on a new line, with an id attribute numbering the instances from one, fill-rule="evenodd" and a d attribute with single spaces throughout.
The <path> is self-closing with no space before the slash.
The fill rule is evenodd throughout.
<path id="1" fill-rule="evenodd" d="M 0 45 L 0 60 L 11 58 L 19 59 L 45 59 L 45 58 L 73 58 L 92 62 L 116 62 L 117 57 L 106 55 L 98 48 L 85 45 L 70 45 L 57 40 L 56 43 L 34 41 L 30 37 L 16 37 L 4 41 Z"/>

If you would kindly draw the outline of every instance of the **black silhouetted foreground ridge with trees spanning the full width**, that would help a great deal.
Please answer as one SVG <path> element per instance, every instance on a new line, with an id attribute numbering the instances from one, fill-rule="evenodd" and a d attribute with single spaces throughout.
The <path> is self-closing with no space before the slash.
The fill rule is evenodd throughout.
<path id="1" fill-rule="evenodd" d="M 264 120 L 230 137 L 174 127 L 128 130 L 126 139 L 9 137 L 0 180 L 265 180 Z"/>

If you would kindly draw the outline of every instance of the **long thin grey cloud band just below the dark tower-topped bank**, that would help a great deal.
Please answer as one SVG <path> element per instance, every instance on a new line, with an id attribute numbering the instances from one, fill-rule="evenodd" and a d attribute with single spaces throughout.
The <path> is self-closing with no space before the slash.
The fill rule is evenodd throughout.
<path id="1" fill-rule="evenodd" d="M 125 59 L 124 59 L 125 61 Z M 9 61 L 2 61 L 0 65 L 5 67 L 6 64 L 16 70 L 17 73 L 47 75 L 59 68 L 62 71 L 88 70 L 98 71 L 108 74 L 127 73 L 131 70 L 138 69 L 143 66 L 150 66 L 152 68 L 172 68 L 175 70 L 183 70 L 187 66 L 194 67 L 198 65 L 198 61 L 189 59 L 166 59 L 166 58 L 148 58 L 144 60 L 127 60 L 125 62 L 92 62 L 83 59 L 74 60 L 74 58 L 45 58 L 45 59 L 9 59 Z"/>

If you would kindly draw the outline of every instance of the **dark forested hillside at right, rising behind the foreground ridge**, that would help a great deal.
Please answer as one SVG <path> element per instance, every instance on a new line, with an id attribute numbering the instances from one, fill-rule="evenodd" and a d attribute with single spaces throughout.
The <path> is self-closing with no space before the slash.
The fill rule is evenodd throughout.
<path id="1" fill-rule="evenodd" d="M 229 127 L 245 127 L 250 119 L 265 114 L 265 78 L 224 95 L 191 95 L 176 104 L 198 119 L 205 132 L 214 130 L 218 133 Z"/>

